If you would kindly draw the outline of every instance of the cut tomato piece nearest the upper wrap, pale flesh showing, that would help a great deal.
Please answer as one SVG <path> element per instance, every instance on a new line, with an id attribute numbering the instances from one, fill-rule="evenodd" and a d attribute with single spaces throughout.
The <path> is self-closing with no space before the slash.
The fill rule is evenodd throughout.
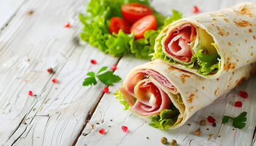
<path id="1" fill-rule="evenodd" d="M 138 19 L 134 24 L 132 24 L 132 27 L 130 27 L 130 33 L 132 31 L 135 32 L 135 38 L 144 38 L 144 33 L 147 30 L 156 30 L 157 29 L 157 19 L 155 19 L 154 15 L 148 15 L 144 16 L 141 19 Z"/>

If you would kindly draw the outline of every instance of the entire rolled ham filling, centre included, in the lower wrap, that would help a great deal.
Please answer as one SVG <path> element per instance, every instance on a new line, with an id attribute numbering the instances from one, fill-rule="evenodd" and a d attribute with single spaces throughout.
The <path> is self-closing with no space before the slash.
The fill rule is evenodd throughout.
<path id="1" fill-rule="evenodd" d="M 131 108 L 138 114 L 143 116 L 150 116 L 160 113 L 163 109 L 168 109 L 171 103 L 168 94 L 158 86 L 155 86 L 151 80 L 147 77 L 150 75 L 161 85 L 165 86 L 172 92 L 177 92 L 177 89 L 161 74 L 151 69 L 144 69 L 135 72 L 126 82 L 124 87 L 119 90 L 124 95 L 126 101 Z M 155 103 L 149 102 L 153 97 Z M 136 98 L 136 102 L 133 101 Z"/>

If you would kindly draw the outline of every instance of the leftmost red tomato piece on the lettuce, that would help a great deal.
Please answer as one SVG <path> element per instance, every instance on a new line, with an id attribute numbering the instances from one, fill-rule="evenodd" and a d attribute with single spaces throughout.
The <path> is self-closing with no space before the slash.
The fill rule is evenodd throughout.
<path id="1" fill-rule="evenodd" d="M 124 33 L 130 33 L 130 25 L 122 18 L 112 17 L 109 23 L 109 31 L 118 33 L 119 30 L 123 30 Z"/>

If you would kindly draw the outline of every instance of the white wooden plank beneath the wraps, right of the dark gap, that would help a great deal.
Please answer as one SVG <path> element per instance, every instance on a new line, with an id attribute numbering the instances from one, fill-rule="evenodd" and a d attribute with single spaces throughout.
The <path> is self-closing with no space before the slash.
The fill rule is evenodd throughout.
<path id="1" fill-rule="evenodd" d="M 123 72 L 129 72 L 130 69 L 141 63 L 143 61 L 135 60 L 133 57 L 123 57 L 118 63 L 116 74 L 121 75 L 124 80 L 128 73 L 124 74 Z M 121 86 L 121 83 L 110 87 L 110 90 L 114 92 L 119 86 Z M 182 127 L 170 131 L 150 127 L 149 123 L 134 116 L 130 111 L 123 111 L 123 105 L 119 104 L 115 96 L 105 94 L 90 123 L 85 127 L 84 135 L 82 134 L 79 137 L 76 145 L 160 145 L 160 139 L 163 136 L 169 140 L 176 139 L 179 145 L 251 145 L 256 122 L 255 86 L 256 77 L 254 76 L 230 91 L 226 98 L 221 98 L 212 105 L 198 111 Z M 247 91 L 249 98 L 243 99 L 238 96 L 240 90 Z M 233 106 L 237 100 L 243 102 L 243 108 Z M 242 111 L 247 111 L 246 127 L 242 130 L 233 128 L 231 123 L 221 124 L 222 116 L 238 116 Z M 206 126 L 199 124 L 201 119 L 207 119 L 208 116 L 215 117 L 216 127 L 213 127 L 210 123 L 207 123 Z M 104 120 L 103 123 L 101 122 L 102 119 Z M 91 129 L 90 125 L 94 125 L 94 128 Z M 123 125 L 129 128 L 129 133 L 124 133 L 121 130 Z M 105 129 L 106 134 L 99 133 L 101 128 Z M 198 128 L 201 128 L 201 136 L 194 135 L 194 131 Z M 209 134 L 213 134 L 213 136 L 208 141 Z M 146 137 L 149 137 L 149 139 Z"/>

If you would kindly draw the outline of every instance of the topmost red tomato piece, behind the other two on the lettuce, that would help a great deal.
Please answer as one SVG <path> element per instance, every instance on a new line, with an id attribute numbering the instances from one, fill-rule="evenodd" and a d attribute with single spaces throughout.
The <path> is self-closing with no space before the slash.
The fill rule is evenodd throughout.
<path id="1" fill-rule="evenodd" d="M 132 2 L 129 4 L 123 4 L 121 7 L 121 13 L 129 24 L 133 24 L 138 19 L 143 18 L 146 15 L 151 15 L 153 10 L 146 5 Z"/>

